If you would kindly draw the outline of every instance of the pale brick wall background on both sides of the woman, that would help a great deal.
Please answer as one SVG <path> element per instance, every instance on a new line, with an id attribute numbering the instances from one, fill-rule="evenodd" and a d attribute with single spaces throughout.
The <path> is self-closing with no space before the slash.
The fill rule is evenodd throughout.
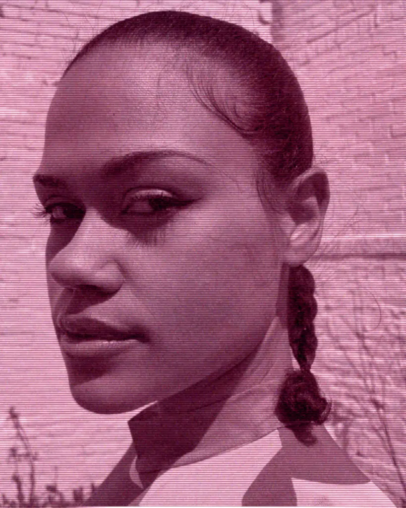
<path id="1" fill-rule="evenodd" d="M 0 393 L 0 470 L 12 438 L 5 421 L 12 404 L 40 450 L 44 481 L 58 465 L 62 486 L 98 483 L 128 442 L 129 415 L 91 415 L 71 400 L 45 291 L 47 232 L 29 213 L 35 202 L 30 177 L 55 85 L 82 42 L 117 19 L 179 5 L 272 39 L 302 84 L 317 164 L 327 169 L 332 192 L 325 239 L 310 264 L 320 307 L 315 370 L 335 402 L 337 438 L 399 501 L 393 464 L 373 428 L 382 424 L 378 400 L 394 447 L 406 456 L 406 423 L 399 416 L 406 401 L 406 16 L 404 2 L 389 0 L 0 2 L 0 362 L 7 387 Z M 375 392 L 363 384 L 370 373 L 377 375 Z M 1 492 L 10 482 L 7 474 L 0 477 Z"/>

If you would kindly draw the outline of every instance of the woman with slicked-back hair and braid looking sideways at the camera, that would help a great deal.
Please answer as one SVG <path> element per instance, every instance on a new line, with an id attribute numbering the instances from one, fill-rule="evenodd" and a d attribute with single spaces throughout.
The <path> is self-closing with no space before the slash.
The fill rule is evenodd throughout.
<path id="1" fill-rule="evenodd" d="M 82 407 L 148 404 L 88 505 L 393 506 L 322 426 L 312 162 L 296 78 L 241 27 L 148 13 L 66 69 L 34 177 L 53 322 Z"/>

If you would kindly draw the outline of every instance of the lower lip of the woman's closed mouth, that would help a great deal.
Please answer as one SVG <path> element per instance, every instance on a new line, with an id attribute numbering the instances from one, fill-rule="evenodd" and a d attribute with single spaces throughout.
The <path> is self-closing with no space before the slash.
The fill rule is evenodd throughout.
<path id="1" fill-rule="evenodd" d="M 62 333 L 60 347 L 66 355 L 75 358 L 106 358 L 119 355 L 128 349 L 140 345 L 142 340 L 129 338 L 123 340 L 107 340 L 98 338 L 78 339 L 75 336 Z"/>

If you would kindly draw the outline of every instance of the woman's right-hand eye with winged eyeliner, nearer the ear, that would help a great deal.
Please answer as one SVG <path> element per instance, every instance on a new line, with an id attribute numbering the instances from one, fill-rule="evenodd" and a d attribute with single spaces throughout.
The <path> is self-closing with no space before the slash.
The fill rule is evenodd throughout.
<path id="1" fill-rule="evenodd" d="M 126 196 L 122 213 L 144 216 L 162 214 L 184 204 L 166 190 L 142 189 Z"/>

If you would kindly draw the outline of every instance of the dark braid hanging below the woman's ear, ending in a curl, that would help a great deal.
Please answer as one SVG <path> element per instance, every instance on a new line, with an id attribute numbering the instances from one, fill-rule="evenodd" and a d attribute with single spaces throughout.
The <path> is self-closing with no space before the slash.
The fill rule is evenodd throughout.
<path id="1" fill-rule="evenodd" d="M 317 314 L 314 290 L 313 275 L 306 267 L 300 265 L 290 268 L 287 325 L 290 346 L 300 370 L 287 373 L 276 414 L 305 444 L 316 442 L 311 433 L 312 424 L 322 424 L 330 411 L 330 404 L 320 394 L 317 380 L 310 370 L 317 348 L 313 323 Z"/>

